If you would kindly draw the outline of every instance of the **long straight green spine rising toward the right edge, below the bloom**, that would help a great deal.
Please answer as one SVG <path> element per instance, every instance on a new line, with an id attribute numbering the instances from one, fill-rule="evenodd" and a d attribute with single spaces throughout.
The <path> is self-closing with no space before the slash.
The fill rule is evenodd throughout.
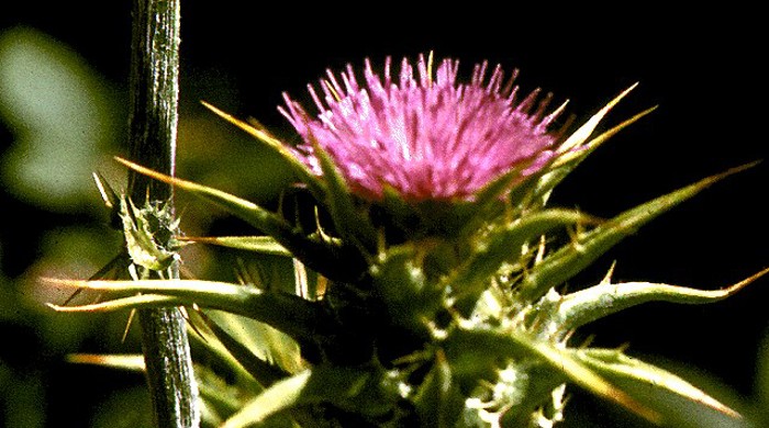
<path id="1" fill-rule="evenodd" d="M 709 177 L 694 184 L 657 198 L 635 209 L 625 211 L 593 230 L 578 237 L 575 243 L 557 250 L 543 262 L 532 268 L 519 285 L 517 290 L 521 297 L 527 301 L 539 299 L 547 290 L 569 280 L 615 244 L 635 233 L 636 229 L 653 218 L 692 198 L 723 178 L 743 171 L 754 165 L 756 164 L 729 169 L 726 172 Z"/>

